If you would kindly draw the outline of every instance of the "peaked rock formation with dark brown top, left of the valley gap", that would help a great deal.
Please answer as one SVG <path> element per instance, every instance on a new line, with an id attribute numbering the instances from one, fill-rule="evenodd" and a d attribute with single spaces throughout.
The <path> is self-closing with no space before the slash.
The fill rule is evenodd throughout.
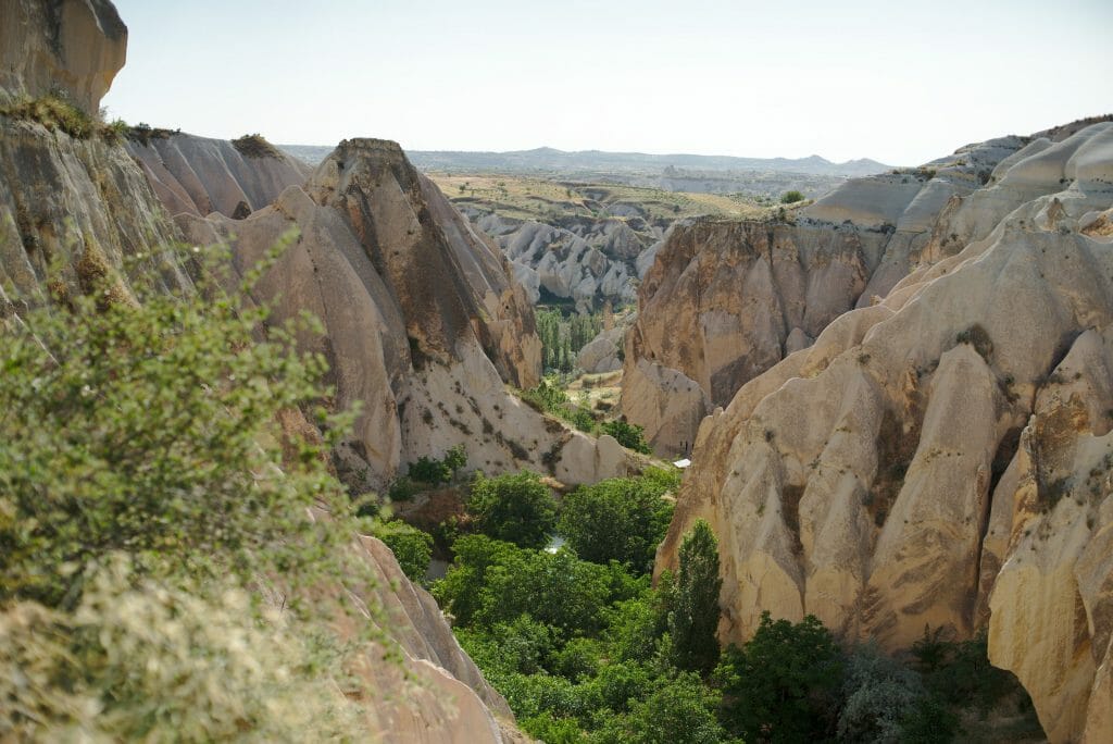
<path id="1" fill-rule="evenodd" d="M 394 143 L 347 140 L 305 188 L 234 221 L 178 215 L 194 243 L 233 241 L 254 265 L 292 229 L 299 238 L 258 292 L 279 297 L 275 321 L 308 310 L 325 335 L 337 404 L 362 405 L 341 449 L 349 481 L 381 488 L 404 463 L 463 444 L 470 467 L 529 467 L 581 483 L 626 474 L 613 440 L 569 431 L 505 383 L 536 384 L 541 344 L 509 264 L 417 174 Z"/>

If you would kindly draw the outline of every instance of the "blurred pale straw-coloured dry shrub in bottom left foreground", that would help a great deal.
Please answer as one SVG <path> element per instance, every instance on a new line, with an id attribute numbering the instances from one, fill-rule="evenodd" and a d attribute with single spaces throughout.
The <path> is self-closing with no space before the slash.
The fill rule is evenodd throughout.
<path id="1" fill-rule="evenodd" d="M 109 560 L 72 614 L 0 611 L 0 737 L 11 741 L 354 741 L 358 706 L 314 630 L 259 621 L 234 585 L 164 584 Z"/>

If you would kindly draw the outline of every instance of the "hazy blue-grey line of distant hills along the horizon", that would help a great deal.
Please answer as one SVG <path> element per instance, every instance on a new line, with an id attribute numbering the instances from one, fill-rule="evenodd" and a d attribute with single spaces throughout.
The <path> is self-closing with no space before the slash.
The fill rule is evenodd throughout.
<path id="1" fill-rule="evenodd" d="M 283 145 L 283 149 L 311 164 L 319 163 L 332 147 Z M 818 155 L 805 158 L 750 158 L 727 155 L 649 155 L 646 153 L 567 153 L 552 147 L 508 153 L 467 153 L 456 150 L 407 150 L 410 160 L 422 170 L 444 173 L 560 174 L 564 176 L 611 175 L 692 175 L 723 174 L 739 170 L 799 173 L 816 176 L 868 176 L 884 173 L 889 166 L 861 158 L 831 163 Z M 687 172 L 687 173 L 684 173 Z"/>

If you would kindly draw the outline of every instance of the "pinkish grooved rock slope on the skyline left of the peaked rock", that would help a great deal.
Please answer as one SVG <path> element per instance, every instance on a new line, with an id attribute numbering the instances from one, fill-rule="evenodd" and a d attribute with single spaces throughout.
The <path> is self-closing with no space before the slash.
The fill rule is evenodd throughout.
<path id="1" fill-rule="evenodd" d="M 246 217 L 267 206 L 287 186 L 301 186 L 312 168 L 280 150 L 247 155 L 226 139 L 162 133 L 129 139 L 127 149 L 139 160 L 158 198 L 171 215 L 204 217 L 219 212 Z"/>

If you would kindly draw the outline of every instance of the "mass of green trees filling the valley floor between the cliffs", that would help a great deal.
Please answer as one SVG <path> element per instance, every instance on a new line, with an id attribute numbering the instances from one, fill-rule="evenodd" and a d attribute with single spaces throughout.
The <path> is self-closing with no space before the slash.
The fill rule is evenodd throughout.
<path id="1" fill-rule="evenodd" d="M 984 637 L 925 634 L 902 663 L 869 644 L 840 648 L 812 616 L 766 614 L 749 643 L 720 652 L 718 545 L 707 522 L 684 536 L 677 574 L 650 585 L 672 511 L 661 496 L 674 486 L 672 473 L 649 472 L 582 487 L 555 510 L 531 507 L 564 538 L 558 550 L 538 549 L 539 532 L 505 509 L 453 546 L 434 596 L 532 735 L 551 744 L 948 742 L 964 721 L 978 725 L 978 711 L 1025 704 L 1015 679 L 989 666 Z M 494 478 L 480 502 L 496 491 L 495 501 L 541 503 L 542 488 L 525 476 Z M 1009 734 L 1038 735 L 1026 705 Z"/>

